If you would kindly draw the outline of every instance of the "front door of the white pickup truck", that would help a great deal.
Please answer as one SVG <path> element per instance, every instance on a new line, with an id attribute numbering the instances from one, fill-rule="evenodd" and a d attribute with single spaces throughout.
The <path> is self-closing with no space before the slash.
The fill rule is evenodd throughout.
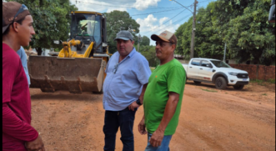
<path id="1" fill-rule="evenodd" d="M 213 74 L 212 64 L 207 60 L 202 60 L 198 73 L 200 80 L 212 81 Z"/>

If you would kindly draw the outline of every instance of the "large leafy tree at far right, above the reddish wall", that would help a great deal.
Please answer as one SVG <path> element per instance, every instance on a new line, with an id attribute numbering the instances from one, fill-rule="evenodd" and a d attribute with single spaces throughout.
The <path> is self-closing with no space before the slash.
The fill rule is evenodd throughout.
<path id="1" fill-rule="evenodd" d="M 231 58 L 270 65 L 275 60 L 275 24 L 268 23 L 270 0 L 256 0 L 229 22 L 226 40 Z"/>

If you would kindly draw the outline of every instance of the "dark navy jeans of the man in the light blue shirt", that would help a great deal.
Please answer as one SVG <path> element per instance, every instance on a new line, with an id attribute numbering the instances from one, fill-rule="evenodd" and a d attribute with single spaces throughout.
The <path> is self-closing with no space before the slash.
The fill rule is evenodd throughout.
<path id="1" fill-rule="evenodd" d="M 123 151 L 134 151 L 133 124 L 135 111 L 106 111 L 104 118 L 103 133 L 105 135 L 104 151 L 115 151 L 116 134 L 121 130 L 121 142 L 124 144 Z"/>

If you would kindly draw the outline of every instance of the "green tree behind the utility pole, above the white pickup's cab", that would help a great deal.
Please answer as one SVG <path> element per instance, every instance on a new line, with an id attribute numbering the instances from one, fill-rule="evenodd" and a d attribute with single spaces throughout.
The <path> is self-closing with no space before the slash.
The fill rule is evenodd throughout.
<path id="1" fill-rule="evenodd" d="M 205 8 L 199 8 L 197 13 L 197 32 L 195 36 L 195 57 L 216 58 L 221 60 L 224 56 L 224 42 L 213 27 L 211 10 L 213 5 Z M 178 38 L 177 54 L 190 58 L 190 39 L 193 17 L 187 23 L 181 25 L 175 35 Z"/>

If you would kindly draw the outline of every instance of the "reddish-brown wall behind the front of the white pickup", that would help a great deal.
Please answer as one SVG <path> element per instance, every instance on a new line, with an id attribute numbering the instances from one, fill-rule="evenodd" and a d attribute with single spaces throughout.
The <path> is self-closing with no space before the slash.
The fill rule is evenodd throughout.
<path id="1" fill-rule="evenodd" d="M 241 69 L 249 73 L 250 79 L 254 80 L 275 80 L 275 66 L 264 65 L 233 65 L 231 67 Z"/>

